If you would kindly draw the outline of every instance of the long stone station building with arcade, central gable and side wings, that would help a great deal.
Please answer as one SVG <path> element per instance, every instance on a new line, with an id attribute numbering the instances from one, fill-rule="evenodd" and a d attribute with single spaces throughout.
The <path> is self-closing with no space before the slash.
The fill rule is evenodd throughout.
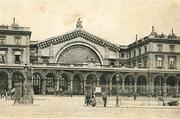
<path id="1" fill-rule="evenodd" d="M 0 26 L 0 89 L 24 81 L 32 72 L 35 94 L 81 95 L 101 87 L 110 95 L 163 95 L 180 92 L 180 37 L 151 33 L 127 46 L 112 44 L 83 29 L 43 41 L 30 41 L 28 27 Z"/>

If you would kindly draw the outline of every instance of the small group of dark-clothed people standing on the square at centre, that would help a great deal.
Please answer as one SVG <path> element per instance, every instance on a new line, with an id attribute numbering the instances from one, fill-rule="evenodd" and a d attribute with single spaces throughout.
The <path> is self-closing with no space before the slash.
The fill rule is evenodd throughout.
<path id="1" fill-rule="evenodd" d="M 107 95 L 105 93 L 102 93 L 102 100 L 104 103 L 104 107 L 106 107 L 107 104 Z M 85 103 L 87 106 L 91 105 L 93 107 L 96 106 L 96 95 L 93 93 L 92 96 L 88 93 L 85 97 Z"/>

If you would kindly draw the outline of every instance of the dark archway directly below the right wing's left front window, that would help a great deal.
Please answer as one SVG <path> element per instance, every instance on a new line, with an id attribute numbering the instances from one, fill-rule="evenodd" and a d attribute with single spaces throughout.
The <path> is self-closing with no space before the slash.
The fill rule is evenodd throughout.
<path id="1" fill-rule="evenodd" d="M 154 78 L 154 93 L 155 95 L 163 95 L 163 82 L 164 78 L 161 75 L 158 75 Z"/>

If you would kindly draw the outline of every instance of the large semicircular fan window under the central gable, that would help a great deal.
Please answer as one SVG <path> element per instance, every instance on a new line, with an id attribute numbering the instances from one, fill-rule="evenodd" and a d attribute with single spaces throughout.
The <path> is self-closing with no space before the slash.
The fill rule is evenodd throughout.
<path id="1" fill-rule="evenodd" d="M 59 56 L 57 63 L 63 64 L 101 64 L 98 55 L 89 47 L 84 45 L 73 45 L 66 48 Z"/>

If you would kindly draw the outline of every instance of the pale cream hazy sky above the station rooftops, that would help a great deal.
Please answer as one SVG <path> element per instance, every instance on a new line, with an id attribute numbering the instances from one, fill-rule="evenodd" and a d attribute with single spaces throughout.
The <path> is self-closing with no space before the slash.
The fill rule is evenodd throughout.
<path id="1" fill-rule="evenodd" d="M 128 45 L 150 34 L 171 29 L 180 36 L 180 0 L 0 0 L 0 24 L 12 24 L 32 31 L 31 40 L 45 40 L 76 28 L 117 45 Z"/>

